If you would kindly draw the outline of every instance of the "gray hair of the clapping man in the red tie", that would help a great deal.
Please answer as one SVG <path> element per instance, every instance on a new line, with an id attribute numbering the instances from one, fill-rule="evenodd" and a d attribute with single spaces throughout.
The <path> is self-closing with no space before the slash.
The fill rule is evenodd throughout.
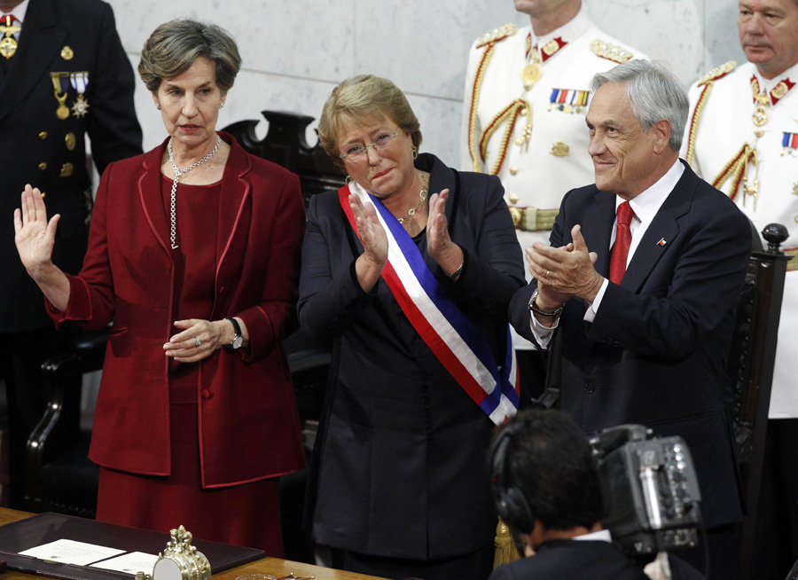
<path id="1" fill-rule="evenodd" d="M 591 90 L 595 93 L 606 84 L 626 84 L 627 95 L 643 129 L 651 129 L 663 119 L 670 123 L 669 145 L 678 153 L 685 136 L 690 102 L 687 91 L 676 75 L 658 62 L 627 60 L 606 73 L 593 76 Z"/>

